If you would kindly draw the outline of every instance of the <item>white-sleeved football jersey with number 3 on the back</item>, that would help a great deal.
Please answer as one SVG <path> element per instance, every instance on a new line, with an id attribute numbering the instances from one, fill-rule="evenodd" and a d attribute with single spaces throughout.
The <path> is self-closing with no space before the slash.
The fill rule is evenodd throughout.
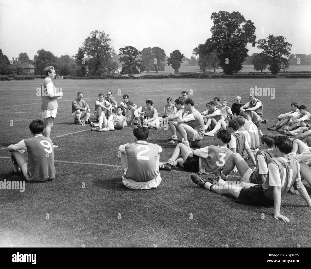
<path id="1" fill-rule="evenodd" d="M 232 151 L 227 147 L 211 145 L 198 148 L 193 154 L 199 157 L 199 173 L 208 174 L 215 172 L 218 167 L 223 167 Z"/>

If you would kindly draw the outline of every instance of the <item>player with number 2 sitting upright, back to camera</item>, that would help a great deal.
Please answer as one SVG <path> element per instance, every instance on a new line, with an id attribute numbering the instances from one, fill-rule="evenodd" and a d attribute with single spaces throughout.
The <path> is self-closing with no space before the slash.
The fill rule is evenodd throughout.
<path id="1" fill-rule="evenodd" d="M 157 144 L 147 143 L 148 128 L 134 129 L 134 143 L 119 147 L 123 184 L 129 189 L 153 189 L 160 185 L 160 153 Z"/>

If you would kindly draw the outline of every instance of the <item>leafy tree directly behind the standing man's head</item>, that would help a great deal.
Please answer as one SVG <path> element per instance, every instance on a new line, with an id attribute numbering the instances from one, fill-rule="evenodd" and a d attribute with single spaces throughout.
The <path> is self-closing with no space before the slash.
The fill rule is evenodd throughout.
<path id="1" fill-rule="evenodd" d="M 44 75 L 44 68 L 47 66 L 54 66 L 58 74 L 58 60 L 57 57 L 50 51 L 40 49 L 34 57 L 35 61 L 35 75 Z"/>

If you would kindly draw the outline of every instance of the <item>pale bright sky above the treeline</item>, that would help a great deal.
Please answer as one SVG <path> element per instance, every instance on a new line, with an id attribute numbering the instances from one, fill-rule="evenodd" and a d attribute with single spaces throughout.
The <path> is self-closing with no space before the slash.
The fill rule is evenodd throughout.
<path id="1" fill-rule="evenodd" d="M 211 37 L 211 13 L 220 10 L 252 21 L 256 40 L 282 35 L 292 53 L 311 54 L 310 0 L 0 0 L 0 49 L 8 58 L 26 52 L 33 59 L 42 48 L 72 56 L 91 31 L 104 30 L 117 53 L 158 46 L 190 58 Z"/>

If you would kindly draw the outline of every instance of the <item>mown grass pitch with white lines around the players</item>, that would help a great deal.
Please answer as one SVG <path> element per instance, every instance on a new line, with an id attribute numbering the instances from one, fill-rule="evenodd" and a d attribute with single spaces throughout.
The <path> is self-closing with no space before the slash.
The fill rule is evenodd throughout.
<path id="1" fill-rule="evenodd" d="M 30 137 L 30 121 L 42 117 L 41 97 L 36 96 L 40 83 L 0 82 L 0 180 L 22 180 L 9 175 L 10 154 L 2 148 Z M 193 90 L 189 97 L 203 111 L 205 103 L 215 96 L 226 99 L 231 106 L 235 96 L 240 95 L 246 103 L 249 88 L 257 85 L 276 90 L 275 99 L 259 97 L 268 120 L 260 129 L 267 133 L 267 127 L 276 123 L 276 116 L 289 111 L 290 102 L 310 108 L 309 80 L 54 80 L 54 84 L 64 93 L 58 100 L 51 132 L 51 139 L 59 145 L 54 150 L 56 178 L 46 183 L 26 182 L 25 192 L 0 190 L 0 246 L 311 246 L 310 209 L 301 197 L 286 194 L 282 198 L 281 214 L 290 219 L 283 223 L 273 219 L 273 207 L 244 206 L 229 196 L 201 189 L 193 184 L 189 172 L 179 168 L 161 171 L 162 182 L 157 189 L 129 190 L 122 184 L 118 146 L 133 141 L 132 128 L 97 133 L 91 132 L 89 126 L 73 124 L 71 118 L 71 102 L 78 91 L 83 91 L 91 110 L 97 94 L 110 90 L 118 102 L 125 93 L 137 105 L 151 98 L 162 113 L 166 98 L 174 100 L 183 90 Z M 166 144 L 168 138 L 169 130 L 150 130 L 148 141 L 163 148 L 160 161 L 167 161 L 173 152 L 174 145 Z M 210 145 L 211 138 L 204 137 L 202 144 Z M 230 175 L 230 180 L 238 179 Z M 305 186 L 311 194 L 311 187 Z"/>

